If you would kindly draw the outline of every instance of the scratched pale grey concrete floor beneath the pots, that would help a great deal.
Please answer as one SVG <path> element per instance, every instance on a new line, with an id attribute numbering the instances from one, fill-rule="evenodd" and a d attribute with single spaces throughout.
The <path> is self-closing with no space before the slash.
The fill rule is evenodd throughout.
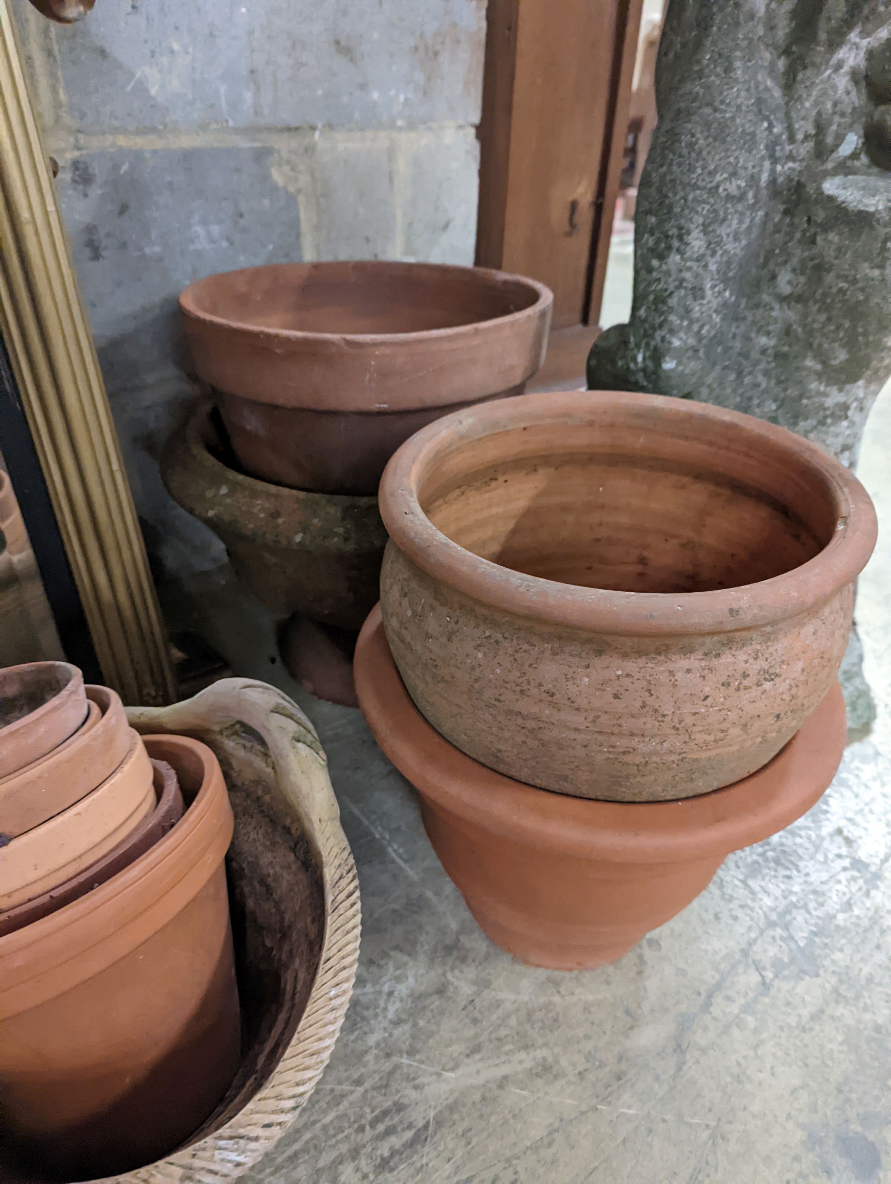
<path id="1" fill-rule="evenodd" d="M 884 538 L 858 617 L 878 701 L 825 799 L 730 856 L 618 965 L 531 970 L 483 937 L 359 713 L 283 674 L 215 573 L 194 623 L 318 727 L 362 888 L 331 1062 L 250 1184 L 812 1184 L 891 1179 L 891 390 L 861 476 Z"/>

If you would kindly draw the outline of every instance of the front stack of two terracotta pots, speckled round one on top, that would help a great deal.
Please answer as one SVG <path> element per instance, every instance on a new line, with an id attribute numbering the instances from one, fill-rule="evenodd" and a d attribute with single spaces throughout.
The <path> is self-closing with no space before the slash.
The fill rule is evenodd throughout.
<path id="1" fill-rule="evenodd" d="M 525 395 L 415 435 L 380 506 L 360 703 L 511 953 L 614 960 L 829 785 L 876 516 L 816 445 L 690 400 Z"/>

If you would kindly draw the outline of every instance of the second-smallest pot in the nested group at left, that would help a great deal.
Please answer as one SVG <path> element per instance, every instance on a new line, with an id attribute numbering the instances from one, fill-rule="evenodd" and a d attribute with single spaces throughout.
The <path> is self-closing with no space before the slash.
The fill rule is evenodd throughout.
<path id="1" fill-rule="evenodd" d="M 0 835 L 21 835 L 67 810 L 110 777 L 127 755 L 130 731 L 116 691 L 84 688 L 88 716 L 58 748 L 0 779 Z"/>

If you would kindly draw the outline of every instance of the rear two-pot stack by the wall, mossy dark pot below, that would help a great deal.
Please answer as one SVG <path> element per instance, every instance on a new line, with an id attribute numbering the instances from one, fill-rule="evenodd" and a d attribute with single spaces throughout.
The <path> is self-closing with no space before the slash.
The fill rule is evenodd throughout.
<path id="1" fill-rule="evenodd" d="M 308 689 L 353 702 L 350 655 L 377 599 L 376 491 L 412 432 L 521 392 L 541 366 L 553 297 L 531 279 L 414 263 L 251 268 L 180 305 L 214 407 L 172 438 L 162 476 L 215 530 L 248 587 L 290 617 Z"/>

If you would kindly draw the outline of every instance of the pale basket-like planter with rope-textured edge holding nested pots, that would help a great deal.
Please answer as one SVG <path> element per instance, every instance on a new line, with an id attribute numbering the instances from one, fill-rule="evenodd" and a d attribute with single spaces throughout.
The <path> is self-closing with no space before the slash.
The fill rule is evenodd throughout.
<path id="1" fill-rule="evenodd" d="M 224 678 L 174 707 L 127 714 L 138 732 L 202 740 L 222 766 L 235 815 L 226 863 L 246 1051 L 188 1146 L 108 1179 L 219 1184 L 284 1134 L 328 1063 L 356 973 L 359 880 L 318 736 L 286 695 Z"/>

